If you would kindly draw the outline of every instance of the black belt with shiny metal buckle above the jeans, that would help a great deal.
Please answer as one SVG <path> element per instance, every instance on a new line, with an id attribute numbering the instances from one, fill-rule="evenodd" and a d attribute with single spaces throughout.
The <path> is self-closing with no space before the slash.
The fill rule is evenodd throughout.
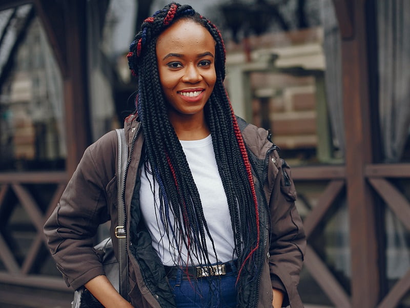
<path id="1" fill-rule="evenodd" d="M 221 276 L 232 273 L 236 269 L 232 266 L 232 263 L 237 268 L 238 261 L 230 261 L 215 265 L 204 265 L 204 266 L 164 266 L 165 272 L 169 279 L 175 279 L 179 273 L 182 271 L 182 278 L 200 278 L 209 276 Z"/>

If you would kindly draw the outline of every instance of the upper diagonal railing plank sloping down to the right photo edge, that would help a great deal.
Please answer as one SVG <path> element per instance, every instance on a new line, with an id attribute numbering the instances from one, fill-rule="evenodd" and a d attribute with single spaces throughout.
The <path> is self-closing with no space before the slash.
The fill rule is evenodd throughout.
<path id="1" fill-rule="evenodd" d="M 370 178 L 368 181 L 396 214 L 401 223 L 410 231 L 410 202 L 387 180 Z"/>

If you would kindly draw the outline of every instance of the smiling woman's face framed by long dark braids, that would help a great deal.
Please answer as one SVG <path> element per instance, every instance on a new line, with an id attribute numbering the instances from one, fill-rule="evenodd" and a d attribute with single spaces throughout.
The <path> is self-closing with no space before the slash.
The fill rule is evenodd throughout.
<path id="1" fill-rule="evenodd" d="M 212 35 L 195 21 L 179 20 L 158 36 L 156 56 L 170 119 L 203 118 L 216 82 Z"/>

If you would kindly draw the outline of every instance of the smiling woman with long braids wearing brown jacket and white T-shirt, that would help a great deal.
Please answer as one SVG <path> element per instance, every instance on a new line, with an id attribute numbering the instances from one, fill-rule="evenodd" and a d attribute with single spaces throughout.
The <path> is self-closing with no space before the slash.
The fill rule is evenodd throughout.
<path id="1" fill-rule="evenodd" d="M 107 220 L 116 240 L 115 132 L 85 151 L 45 225 L 67 284 L 106 307 L 302 307 L 305 238 L 289 166 L 267 131 L 235 117 L 218 29 L 172 3 L 145 20 L 128 59 L 138 77 L 125 122 L 131 303 L 91 240 Z"/>

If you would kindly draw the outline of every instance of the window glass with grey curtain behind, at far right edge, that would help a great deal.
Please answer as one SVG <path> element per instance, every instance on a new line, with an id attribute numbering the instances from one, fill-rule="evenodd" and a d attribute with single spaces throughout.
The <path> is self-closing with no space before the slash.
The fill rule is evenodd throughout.
<path id="1" fill-rule="evenodd" d="M 410 162 L 410 3 L 376 1 L 379 123 L 384 162 Z"/>

